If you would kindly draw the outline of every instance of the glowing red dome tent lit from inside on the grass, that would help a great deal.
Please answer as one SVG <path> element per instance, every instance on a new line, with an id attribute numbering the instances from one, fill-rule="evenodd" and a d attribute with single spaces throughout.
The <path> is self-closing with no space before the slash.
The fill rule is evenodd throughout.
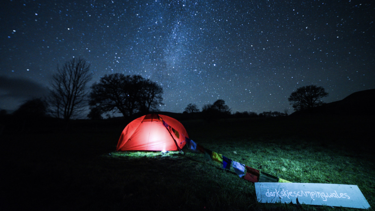
<path id="1" fill-rule="evenodd" d="M 148 114 L 126 125 L 116 151 L 175 151 L 183 148 L 185 137 L 189 138 L 183 125 L 176 119 Z"/>

